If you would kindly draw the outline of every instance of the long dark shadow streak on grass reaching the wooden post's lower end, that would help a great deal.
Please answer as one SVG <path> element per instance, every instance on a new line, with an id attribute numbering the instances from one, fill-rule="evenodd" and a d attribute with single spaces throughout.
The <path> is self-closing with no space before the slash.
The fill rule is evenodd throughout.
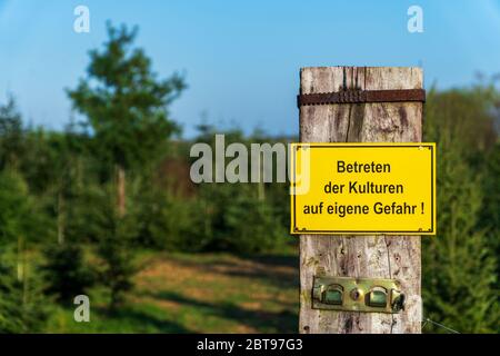
<path id="1" fill-rule="evenodd" d="M 149 294 L 153 298 L 174 301 L 183 306 L 193 307 L 204 315 L 213 315 L 224 319 L 232 319 L 261 333 L 297 333 L 298 315 L 290 312 L 248 310 L 233 303 L 208 303 L 184 297 L 174 291 L 159 291 Z M 213 330 L 217 332 L 217 330 Z M 182 332 L 181 332 L 182 333 Z"/>

